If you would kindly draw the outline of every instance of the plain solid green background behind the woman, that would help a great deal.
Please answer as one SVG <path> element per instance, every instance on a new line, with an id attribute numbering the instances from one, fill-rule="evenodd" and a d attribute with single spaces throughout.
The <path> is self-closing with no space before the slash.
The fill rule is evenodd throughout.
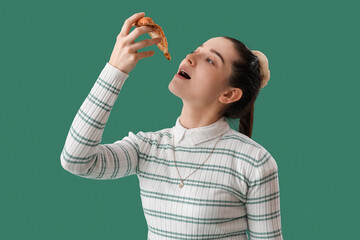
<path id="1" fill-rule="evenodd" d="M 60 165 L 72 120 L 123 22 L 141 11 L 162 26 L 172 60 L 144 49 L 155 55 L 130 73 L 102 143 L 172 127 L 182 102 L 168 84 L 182 59 L 209 38 L 238 38 L 269 59 L 252 138 L 278 164 L 284 239 L 355 239 L 356 2 L 1 1 L 0 239 L 146 239 L 136 175 L 90 180 Z"/>

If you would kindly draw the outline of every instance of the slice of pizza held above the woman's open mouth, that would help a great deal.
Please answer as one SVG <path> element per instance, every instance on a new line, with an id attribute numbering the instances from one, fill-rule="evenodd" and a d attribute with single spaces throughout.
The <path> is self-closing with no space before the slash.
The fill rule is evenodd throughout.
<path id="1" fill-rule="evenodd" d="M 164 56 L 168 60 L 171 60 L 170 53 L 169 53 L 169 50 L 168 50 L 168 44 L 167 44 L 167 40 L 166 40 L 164 31 L 162 30 L 162 28 L 159 25 L 154 23 L 154 21 L 150 17 L 140 18 L 137 22 L 133 23 L 131 26 L 132 27 L 133 26 L 135 26 L 135 27 L 154 26 L 155 30 L 152 31 L 152 32 L 149 32 L 149 35 L 150 35 L 151 38 L 160 37 L 162 39 L 162 41 L 160 43 L 156 44 L 156 45 L 158 46 L 160 51 L 164 52 Z"/>

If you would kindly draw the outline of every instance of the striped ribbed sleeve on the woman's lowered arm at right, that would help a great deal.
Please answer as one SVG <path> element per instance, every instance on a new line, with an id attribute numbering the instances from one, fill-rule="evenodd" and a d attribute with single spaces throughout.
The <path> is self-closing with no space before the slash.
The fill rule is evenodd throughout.
<path id="1" fill-rule="evenodd" d="M 259 150 L 249 178 L 245 207 L 250 239 L 283 239 L 278 166 L 264 148 Z"/>

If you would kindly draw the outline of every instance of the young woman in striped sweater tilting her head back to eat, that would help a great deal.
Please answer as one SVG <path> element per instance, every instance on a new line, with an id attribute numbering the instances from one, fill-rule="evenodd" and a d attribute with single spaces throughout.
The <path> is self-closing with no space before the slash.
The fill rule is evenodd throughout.
<path id="1" fill-rule="evenodd" d="M 282 239 L 277 163 L 251 139 L 254 102 L 269 80 L 268 63 L 240 41 L 211 38 L 181 62 L 169 84 L 183 101 L 173 127 L 130 131 L 100 144 L 129 73 L 153 55 L 137 51 L 158 43 L 135 43 L 151 27 L 129 33 L 143 16 L 125 21 L 110 61 L 71 125 L 62 167 L 92 179 L 136 174 L 148 239 Z M 226 118 L 240 118 L 239 132 Z"/>

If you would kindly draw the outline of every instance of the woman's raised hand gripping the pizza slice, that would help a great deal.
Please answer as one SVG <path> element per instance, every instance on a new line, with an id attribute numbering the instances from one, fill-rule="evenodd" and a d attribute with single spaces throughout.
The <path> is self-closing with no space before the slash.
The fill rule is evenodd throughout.
<path id="1" fill-rule="evenodd" d="M 116 38 L 116 43 L 111 53 L 109 64 L 126 74 L 129 74 L 130 71 L 134 69 L 140 59 L 154 55 L 154 51 L 137 52 L 139 49 L 161 42 L 161 38 L 151 38 L 135 42 L 135 39 L 137 39 L 141 34 L 153 31 L 154 28 L 151 26 L 137 27 L 129 34 L 131 25 L 144 16 L 145 13 L 143 12 L 135 13 L 125 20 L 121 32 Z"/>

